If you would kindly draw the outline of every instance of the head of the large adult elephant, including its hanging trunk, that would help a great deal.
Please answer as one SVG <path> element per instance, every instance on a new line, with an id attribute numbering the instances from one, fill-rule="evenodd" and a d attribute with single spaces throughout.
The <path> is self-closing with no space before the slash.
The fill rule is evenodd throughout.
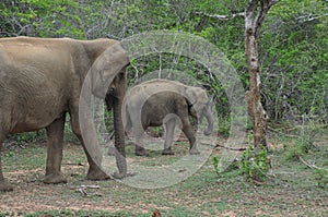
<path id="1" fill-rule="evenodd" d="M 120 44 L 115 44 L 108 47 L 91 68 L 92 93 L 99 98 L 105 97 L 108 110 L 114 107 L 115 147 L 120 154 L 116 156 L 119 173 L 115 173 L 115 178 L 124 178 L 127 171 L 121 105 L 126 95 L 128 64 L 126 50 Z"/>

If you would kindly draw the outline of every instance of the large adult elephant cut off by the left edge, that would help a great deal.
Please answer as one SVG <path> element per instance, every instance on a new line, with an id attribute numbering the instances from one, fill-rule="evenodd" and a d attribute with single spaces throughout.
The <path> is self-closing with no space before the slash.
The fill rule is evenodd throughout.
<path id="1" fill-rule="evenodd" d="M 60 167 L 65 119 L 69 112 L 72 131 L 81 141 L 90 165 L 87 179 L 108 179 L 101 167 L 99 147 L 86 144 L 82 137 L 79 123 L 80 93 L 87 79 L 92 94 L 101 98 L 107 94 L 113 98 L 116 147 L 125 156 L 120 110 L 128 64 L 126 51 L 119 41 L 113 39 L 1 38 L 0 145 L 8 134 L 45 128 L 48 147 L 44 182 L 67 182 Z M 110 88 L 106 85 L 110 85 Z M 107 89 L 110 92 L 107 93 Z M 95 132 L 90 122 L 91 134 Z M 87 142 L 97 144 L 96 136 L 93 135 Z M 117 158 L 117 176 L 124 177 L 127 172 L 125 159 Z M 12 186 L 3 177 L 0 159 L 0 191 L 10 190 Z"/>

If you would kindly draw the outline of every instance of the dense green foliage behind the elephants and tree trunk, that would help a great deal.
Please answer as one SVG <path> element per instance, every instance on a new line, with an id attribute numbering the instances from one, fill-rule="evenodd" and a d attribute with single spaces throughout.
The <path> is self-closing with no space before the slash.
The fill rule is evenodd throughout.
<path id="1" fill-rule="evenodd" d="M 238 15 L 247 3 L 245 0 L 3 0 L 0 36 L 122 39 L 153 29 L 183 31 L 218 46 L 247 88 L 244 19 Z M 305 113 L 327 121 L 327 33 L 326 0 L 280 0 L 270 10 L 261 28 L 259 58 L 262 103 L 271 120 L 300 120 Z M 175 69 L 187 71 L 203 84 L 210 82 L 201 64 L 174 58 L 163 56 L 162 62 L 169 68 L 174 62 Z M 142 59 L 136 65 L 138 73 L 163 67 L 157 57 Z M 131 73 L 130 79 L 136 79 L 136 74 Z M 220 84 L 210 85 L 221 91 Z M 226 106 L 224 94 L 216 99 L 223 108 Z"/>

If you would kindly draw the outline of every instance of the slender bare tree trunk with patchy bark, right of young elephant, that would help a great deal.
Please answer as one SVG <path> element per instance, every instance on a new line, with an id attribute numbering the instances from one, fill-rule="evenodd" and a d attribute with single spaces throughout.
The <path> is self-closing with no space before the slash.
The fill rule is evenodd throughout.
<path id="1" fill-rule="evenodd" d="M 267 112 L 260 101 L 260 65 L 257 40 L 261 24 L 277 0 L 251 0 L 245 14 L 245 52 L 249 73 L 249 91 L 246 93 L 248 111 L 254 123 L 254 145 L 267 146 Z"/>

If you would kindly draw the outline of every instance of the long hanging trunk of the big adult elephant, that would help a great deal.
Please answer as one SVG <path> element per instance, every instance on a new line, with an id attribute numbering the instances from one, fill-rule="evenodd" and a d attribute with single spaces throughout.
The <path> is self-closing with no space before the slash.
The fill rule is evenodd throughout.
<path id="1" fill-rule="evenodd" d="M 118 75 L 120 76 L 120 75 Z M 124 75 L 125 76 L 125 75 Z M 117 77 L 118 79 L 118 77 Z M 125 79 L 124 79 L 125 80 Z M 117 87 L 115 97 L 113 97 L 114 105 L 114 135 L 115 135 L 115 147 L 116 147 L 116 165 L 118 168 L 118 174 L 116 178 L 124 178 L 127 176 L 127 161 L 126 161 L 126 149 L 125 149 L 125 130 L 121 119 L 121 107 L 122 99 L 125 97 L 126 88 L 125 82 L 120 82 L 120 86 Z"/>

